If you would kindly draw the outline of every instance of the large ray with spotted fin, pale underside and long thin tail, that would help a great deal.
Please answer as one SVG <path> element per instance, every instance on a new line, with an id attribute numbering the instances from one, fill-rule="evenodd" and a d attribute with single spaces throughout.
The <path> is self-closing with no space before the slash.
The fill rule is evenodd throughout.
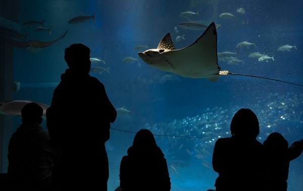
<path id="1" fill-rule="evenodd" d="M 187 78 L 207 78 L 215 82 L 219 79 L 220 75 L 230 74 L 263 78 L 303 86 L 272 78 L 221 71 L 221 68 L 218 66 L 217 30 L 214 22 L 189 46 L 175 49 L 170 33 L 167 33 L 160 41 L 157 49 L 138 52 L 138 55 L 144 62 L 152 67 Z"/>

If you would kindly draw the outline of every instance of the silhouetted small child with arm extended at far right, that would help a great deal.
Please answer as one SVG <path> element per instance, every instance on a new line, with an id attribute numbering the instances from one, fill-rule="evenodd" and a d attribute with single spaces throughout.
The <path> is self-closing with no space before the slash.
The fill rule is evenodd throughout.
<path id="1" fill-rule="evenodd" d="M 270 134 L 263 143 L 265 150 L 265 187 L 267 191 L 286 191 L 289 162 L 303 150 L 303 139 L 288 147 L 279 133 Z"/>

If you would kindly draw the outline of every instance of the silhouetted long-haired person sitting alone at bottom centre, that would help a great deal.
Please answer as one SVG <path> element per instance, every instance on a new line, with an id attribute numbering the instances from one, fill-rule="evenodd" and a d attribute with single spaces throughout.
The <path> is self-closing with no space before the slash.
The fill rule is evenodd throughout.
<path id="1" fill-rule="evenodd" d="M 121 160 L 120 186 L 116 190 L 170 190 L 166 159 L 149 130 L 137 132 L 127 154 Z"/>

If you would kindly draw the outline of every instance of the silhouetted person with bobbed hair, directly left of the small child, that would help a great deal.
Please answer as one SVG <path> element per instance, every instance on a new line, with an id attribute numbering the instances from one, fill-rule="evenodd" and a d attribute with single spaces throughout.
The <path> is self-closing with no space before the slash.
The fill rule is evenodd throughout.
<path id="1" fill-rule="evenodd" d="M 240 109 L 230 124 L 231 137 L 215 143 L 213 168 L 219 173 L 217 191 L 256 191 L 262 187 L 263 146 L 256 140 L 259 121 L 250 109 Z"/>

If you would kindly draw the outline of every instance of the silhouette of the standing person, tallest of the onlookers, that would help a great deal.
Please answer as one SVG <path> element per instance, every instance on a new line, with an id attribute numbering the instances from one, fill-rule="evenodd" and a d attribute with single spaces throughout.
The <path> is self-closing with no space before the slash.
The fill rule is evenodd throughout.
<path id="1" fill-rule="evenodd" d="M 63 190 L 107 190 L 109 178 L 105 142 L 117 116 L 104 85 L 88 73 L 90 49 L 72 44 L 65 49 L 69 69 L 54 90 L 46 120 L 51 143 L 62 150 Z"/>

